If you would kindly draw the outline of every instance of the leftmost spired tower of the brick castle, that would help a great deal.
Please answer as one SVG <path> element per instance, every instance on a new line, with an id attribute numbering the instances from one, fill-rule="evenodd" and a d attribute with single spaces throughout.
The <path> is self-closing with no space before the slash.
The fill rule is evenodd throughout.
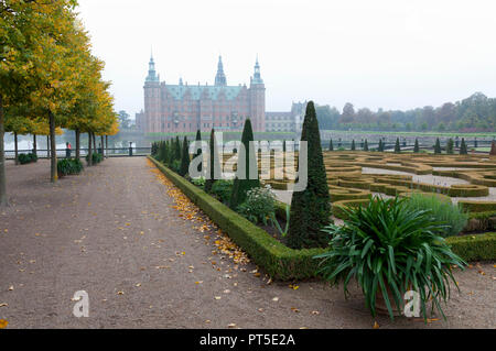
<path id="1" fill-rule="evenodd" d="M 147 133 L 160 132 L 160 76 L 155 72 L 153 55 L 148 64 L 148 76 L 144 79 L 144 125 Z"/>

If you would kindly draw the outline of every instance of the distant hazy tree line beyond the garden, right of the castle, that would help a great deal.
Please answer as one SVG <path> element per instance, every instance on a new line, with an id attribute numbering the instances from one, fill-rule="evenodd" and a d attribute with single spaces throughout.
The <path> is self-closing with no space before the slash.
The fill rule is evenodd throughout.
<path id="1" fill-rule="evenodd" d="M 317 106 L 319 124 L 323 130 L 390 130 L 390 131 L 495 131 L 496 98 L 482 92 L 434 108 L 425 106 L 407 111 L 368 108 L 355 109 L 346 103 L 339 112 L 335 107 Z"/>

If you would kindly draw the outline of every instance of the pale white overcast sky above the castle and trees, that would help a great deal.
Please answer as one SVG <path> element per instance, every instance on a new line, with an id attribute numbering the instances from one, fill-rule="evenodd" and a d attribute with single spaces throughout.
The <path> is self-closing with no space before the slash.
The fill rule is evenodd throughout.
<path id="1" fill-rule="evenodd" d="M 258 54 L 267 110 L 292 101 L 356 108 L 496 97 L 493 0 L 79 0 L 116 110 L 143 108 L 150 50 L 161 80 L 249 85 Z"/>

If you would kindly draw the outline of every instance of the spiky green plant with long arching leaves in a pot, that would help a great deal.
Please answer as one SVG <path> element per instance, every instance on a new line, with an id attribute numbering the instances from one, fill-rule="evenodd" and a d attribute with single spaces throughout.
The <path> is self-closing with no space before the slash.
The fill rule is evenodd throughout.
<path id="1" fill-rule="evenodd" d="M 429 211 L 412 210 L 405 201 L 375 197 L 368 206 L 346 210 L 344 226 L 325 229 L 332 250 L 316 256 L 323 260 L 320 273 L 332 285 L 343 282 L 345 296 L 356 278 L 373 316 L 378 294 L 393 319 L 393 308 L 402 312 L 405 293 L 414 290 L 424 320 L 431 299 L 432 309 L 445 318 L 440 303 L 450 298 L 451 283 L 457 287 L 452 266 L 463 268 L 466 263 L 440 235 L 443 226 L 433 222 Z"/>

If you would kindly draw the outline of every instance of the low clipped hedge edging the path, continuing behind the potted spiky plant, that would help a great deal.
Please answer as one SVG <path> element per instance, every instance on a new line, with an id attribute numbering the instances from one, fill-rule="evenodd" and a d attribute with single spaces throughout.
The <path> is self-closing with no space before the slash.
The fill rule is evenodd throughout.
<path id="1" fill-rule="evenodd" d="M 316 270 L 320 261 L 314 260 L 313 256 L 325 252 L 325 249 L 293 250 L 285 246 L 269 235 L 267 231 L 239 216 L 153 157 L 148 156 L 148 158 L 269 276 L 279 281 L 305 279 L 317 276 Z M 279 212 L 281 210 L 282 208 L 279 209 Z M 452 246 L 453 252 L 465 261 L 496 260 L 496 233 L 450 237 L 446 238 L 446 242 Z"/>

